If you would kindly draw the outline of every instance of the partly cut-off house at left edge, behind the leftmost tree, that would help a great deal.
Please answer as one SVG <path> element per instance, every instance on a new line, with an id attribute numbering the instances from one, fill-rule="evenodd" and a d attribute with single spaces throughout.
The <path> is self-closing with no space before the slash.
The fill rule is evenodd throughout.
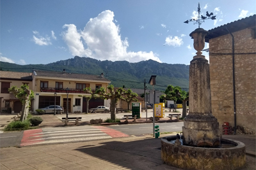
<path id="1" fill-rule="evenodd" d="M 0 71 L 0 108 L 1 113 L 19 113 L 22 110 L 22 103 L 8 89 L 12 86 L 20 87 L 24 84 L 33 89 L 32 73 L 20 73 L 13 71 Z"/>

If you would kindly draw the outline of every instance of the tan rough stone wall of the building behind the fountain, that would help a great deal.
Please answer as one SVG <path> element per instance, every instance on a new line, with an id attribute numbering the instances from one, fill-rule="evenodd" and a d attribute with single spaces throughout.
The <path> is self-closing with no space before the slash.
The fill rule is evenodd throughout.
<path id="1" fill-rule="evenodd" d="M 235 48 L 236 119 L 246 133 L 255 134 L 256 116 L 256 39 L 253 29 L 232 32 Z M 221 125 L 234 127 L 234 97 L 232 71 L 232 36 L 209 40 L 212 115 Z M 228 55 L 214 53 L 230 53 Z M 240 53 L 240 54 L 236 54 Z M 243 53 L 243 54 L 241 54 Z M 252 54 L 250 54 L 252 53 Z"/>

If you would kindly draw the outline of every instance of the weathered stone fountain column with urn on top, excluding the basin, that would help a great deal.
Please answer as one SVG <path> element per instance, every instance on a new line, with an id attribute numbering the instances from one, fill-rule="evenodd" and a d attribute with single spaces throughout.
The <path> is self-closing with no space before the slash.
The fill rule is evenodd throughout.
<path id="1" fill-rule="evenodd" d="M 212 115 L 209 64 L 202 55 L 205 36 L 202 28 L 195 29 L 189 36 L 194 39 L 197 51 L 189 66 L 189 115 L 184 120 L 183 143 L 189 146 L 220 146 L 218 120 Z"/>

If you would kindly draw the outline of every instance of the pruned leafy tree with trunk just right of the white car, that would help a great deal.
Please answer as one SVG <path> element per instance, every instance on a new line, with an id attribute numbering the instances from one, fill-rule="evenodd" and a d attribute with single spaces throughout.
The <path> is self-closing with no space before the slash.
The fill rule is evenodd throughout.
<path id="1" fill-rule="evenodd" d="M 107 87 L 108 92 L 106 91 L 106 89 L 104 87 L 101 87 L 100 89 L 97 89 L 95 92 L 92 92 L 90 87 L 86 87 L 84 89 L 84 92 L 92 94 L 92 95 L 98 95 L 99 97 L 102 97 L 103 99 L 110 99 L 111 102 L 111 120 L 116 120 L 116 103 L 118 101 L 118 99 L 124 99 L 124 93 L 125 90 L 120 87 L 118 89 L 114 89 L 113 85 L 108 85 Z"/>

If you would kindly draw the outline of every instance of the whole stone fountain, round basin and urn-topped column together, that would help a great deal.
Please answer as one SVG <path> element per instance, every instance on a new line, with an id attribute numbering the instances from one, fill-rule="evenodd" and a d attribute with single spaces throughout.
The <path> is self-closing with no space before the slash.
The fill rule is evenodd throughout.
<path id="1" fill-rule="evenodd" d="M 245 145 L 221 139 L 218 120 L 212 115 L 209 64 L 201 52 L 207 34 L 202 28 L 189 34 L 197 52 L 189 66 L 189 115 L 182 127 L 183 145 L 176 136 L 162 138 L 161 159 L 182 169 L 238 169 L 246 162 Z M 223 148 L 224 144 L 228 147 Z"/>

